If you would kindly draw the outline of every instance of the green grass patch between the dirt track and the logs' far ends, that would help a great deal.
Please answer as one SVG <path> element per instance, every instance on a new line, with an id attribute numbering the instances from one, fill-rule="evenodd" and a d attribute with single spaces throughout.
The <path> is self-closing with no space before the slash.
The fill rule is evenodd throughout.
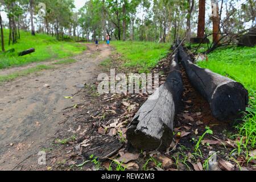
<path id="1" fill-rule="evenodd" d="M 123 66 L 137 68 L 139 73 L 147 73 L 154 68 L 170 49 L 170 43 L 154 42 L 121 42 L 114 41 L 111 45 L 125 60 Z"/>

